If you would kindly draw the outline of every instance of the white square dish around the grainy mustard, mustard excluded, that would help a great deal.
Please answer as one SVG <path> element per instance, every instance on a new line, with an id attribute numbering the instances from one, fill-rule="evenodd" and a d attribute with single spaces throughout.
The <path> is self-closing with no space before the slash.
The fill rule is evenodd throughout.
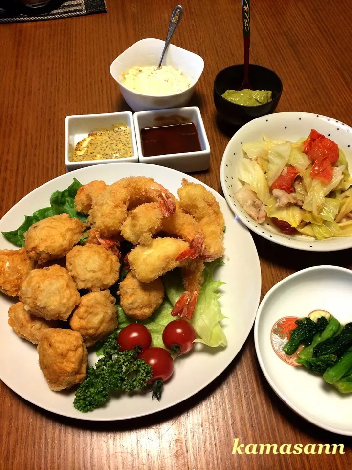
<path id="1" fill-rule="evenodd" d="M 87 160 L 84 162 L 71 162 L 70 156 L 76 146 L 90 132 L 101 131 L 116 124 L 125 124 L 131 128 L 133 156 L 127 158 Z M 65 118 L 65 166 L 67 171 L 77 170 L 85 166 L 100 165 L 103 163 L 138 162 L 137 144 L 135 139 L 133 116 L 131 111 L 103 114 L 77 114 Z"/>

